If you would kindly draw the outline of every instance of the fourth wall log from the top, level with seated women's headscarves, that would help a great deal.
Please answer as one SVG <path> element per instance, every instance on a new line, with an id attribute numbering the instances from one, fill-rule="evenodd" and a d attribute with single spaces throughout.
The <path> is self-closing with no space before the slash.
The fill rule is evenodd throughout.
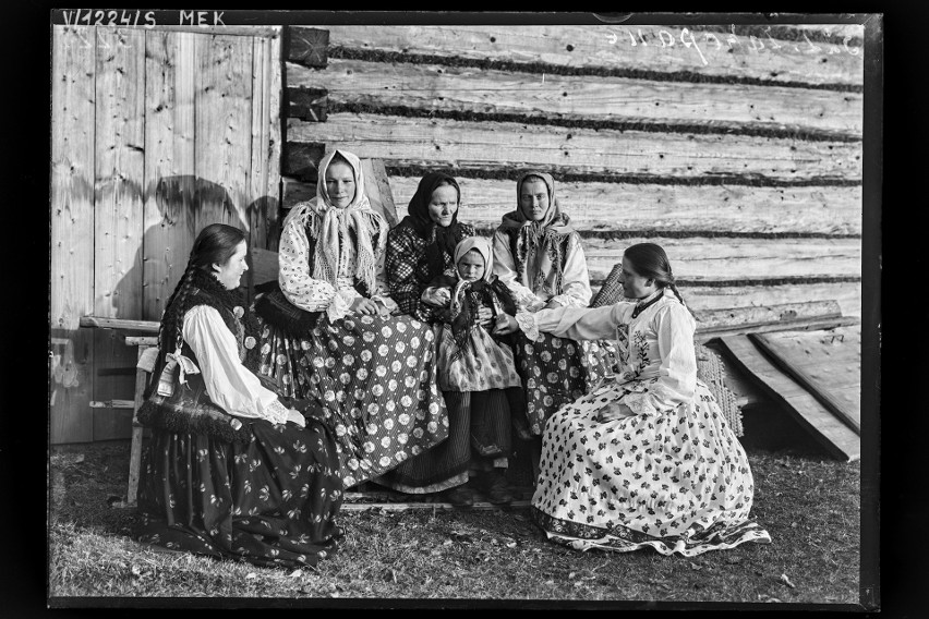
<path id="1" fill-rule="evenodd" d="M 390 177 L 397 217 L 407 215 L 419 177 Z M 492 230 L 516 208 L 510 180 L 459 178 L 462 221 Z M 662 186 L 557 182 L 562 208 L 579 231 L 674 230 L 728 233 L 861 233 L 861 187 Z M 283 204 L 315 187 L 286 186 Z"/>

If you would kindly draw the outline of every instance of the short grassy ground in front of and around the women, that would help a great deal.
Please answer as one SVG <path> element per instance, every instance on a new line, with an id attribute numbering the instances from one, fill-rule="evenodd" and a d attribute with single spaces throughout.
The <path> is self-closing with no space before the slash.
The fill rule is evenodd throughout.
<path id="1" fill-rule="evenodd" d="M 526 508 L 343 511 L 341 551 L 286 570 L 137 544 L 135 511 L 111 507 L 129 442 L 56 449 L 49 595 L 858 604 L 860 463 L 759 449 L 749 459 L 768 545 L 695 558 L 578 553 L 547 542 Z"/>

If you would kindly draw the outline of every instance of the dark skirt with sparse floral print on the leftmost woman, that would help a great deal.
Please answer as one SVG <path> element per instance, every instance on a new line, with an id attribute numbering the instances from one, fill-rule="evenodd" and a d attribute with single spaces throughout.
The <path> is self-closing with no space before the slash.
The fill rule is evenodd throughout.
<path id="1" fill-rule="evenodd" d="M 257 566 L 315 566 L 337 548 L 342 483 L 331 433 L 251 424 L 249 444 L 153 428 L 140 542 Z"/>

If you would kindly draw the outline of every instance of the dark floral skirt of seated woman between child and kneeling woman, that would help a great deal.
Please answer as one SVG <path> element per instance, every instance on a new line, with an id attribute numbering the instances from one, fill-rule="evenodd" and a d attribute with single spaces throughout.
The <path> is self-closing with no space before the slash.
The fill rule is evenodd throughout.
<path id="1" fill-rule="evenodd" d="M 529 430 L 539 436 L 555 411 L 571 403 L 613 374 L 614 344 L 608 340 L 575 341 L 539 333 L 530 340 L 514 333 L 517 368 L 526 389 Z"/>

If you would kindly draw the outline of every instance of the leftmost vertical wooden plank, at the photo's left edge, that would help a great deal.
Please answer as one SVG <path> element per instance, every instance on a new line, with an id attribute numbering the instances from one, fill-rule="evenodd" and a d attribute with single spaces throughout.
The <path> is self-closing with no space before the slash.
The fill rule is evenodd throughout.
<path id="1" fill-rule="evenodd" d="M 53 26 L 51 61 L 50 441 L 93 438 L 94 28 Z"/>

